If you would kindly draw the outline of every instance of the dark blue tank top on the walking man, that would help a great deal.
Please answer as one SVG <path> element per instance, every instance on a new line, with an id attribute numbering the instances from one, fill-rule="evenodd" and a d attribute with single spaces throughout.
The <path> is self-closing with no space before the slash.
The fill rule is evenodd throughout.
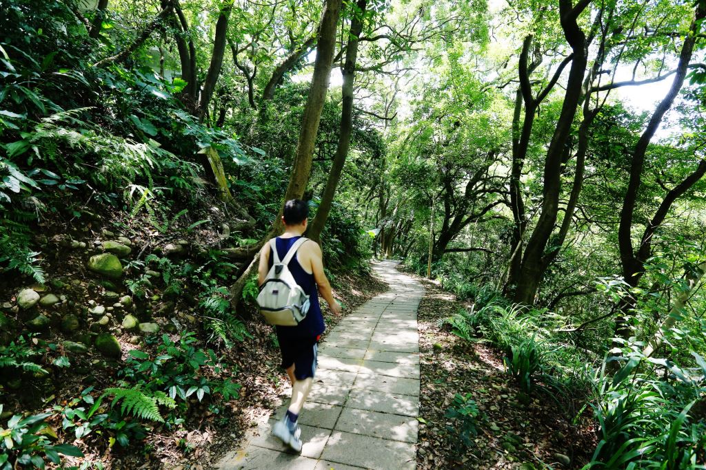
<path id="1" fill-rule="evenodd" d="M 289 252 L 289 248 L 294 245 L 294 242 L 299 240 L 301 237 L 291 237 L 291 238 L 275 238 L 275 244 L 277 245 L 277 254 L 280 259 L 284 259 Z M 268 267 L 272 268 L 274 264 L 274 256 L 270 253 L 270 259 L 268 260 Z M 309 295 L 309 302 L 311 306 L 309 307 L 309 313 L 306 314 L 306 318 L 299 323 L 297 326 L 277 326 L 277 335 L 287 337 L 287 338 L 299 338 L 302 340 L 311 340 L 316 338 L 318 335 L 323 333 L 325 330 L 325 324 L 323 323 L 323 315 L 321 314 L 321 305 L 318 303 L 318 287 L 316 286 L 316 281 L 313 278 L 313 274 L 309 274 L 304 271 L 301 267 L 299 261 L 297 261 L 297 256 L 294 255 L 292 261 L 289 261 L 287 268 L 294 276 L 294 280 L 297 284 L 304 289 L 307 295 Z"/>

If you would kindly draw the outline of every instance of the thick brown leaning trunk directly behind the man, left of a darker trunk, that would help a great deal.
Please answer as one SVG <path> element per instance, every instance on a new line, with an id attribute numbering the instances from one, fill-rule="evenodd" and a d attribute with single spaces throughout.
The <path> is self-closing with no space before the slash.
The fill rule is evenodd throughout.
<path id="1" fill-rule="evenodd" d="M 311 156 L 313 145 L 318 133 L 318 124 L 321 120 L 323 104 L 328 92 L 328 83 L 331 76 L 331 66 L 333 65 L 333 51 L 336 46 L 336 27 L 341 11 L 341 0 L 326 0 L 323 15 L 321 16 L 321 26 L 319 27 L 319 38 L 316 46 L 316 62 L 314 63 L 313 77 L 311 78 L 311 88 L 309 97 L 306 99 L 304 116 L 301 120 L 301 132 L 299 142 L 297 142 L 294 166 L 289 176 L 289 185 L 285 192 L 285 201 L 289 199 L 299 199 L 304 195 L 306 184 L 309 183 L 309 173 L 311 173 Z M 260 246 L 282 230 L 282 209 L 277 215 L 270 229 L 260 242 Z M 258 257 L 249 264 L 244 273 L 232 285 L 230 289 L 231 304 L 236 307 L 240 302 L 243 287 L 247 280 L 258 268 Z"/>

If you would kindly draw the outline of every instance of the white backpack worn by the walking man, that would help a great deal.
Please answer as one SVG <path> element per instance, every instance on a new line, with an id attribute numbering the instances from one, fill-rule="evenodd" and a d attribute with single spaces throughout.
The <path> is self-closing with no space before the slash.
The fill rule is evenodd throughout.
<path id="1" fill-rule="evenodd" d="M 270 256 L 273 256 L 273 264 L 265 277 L 265 282 L 260 286 L 258 307 L 265 321 L 270 325 L 297 326 L 309 311 L 309 295 L 306 295 L 304 289 L 294 280 L 287 264 L 292 261 L 294 254 L 297 254 L 297 249 L 309 239 L 301 237 L 294 242 L 282 261 L 277 254 L 275 240 L 275 238 L 270 240 Z"/>

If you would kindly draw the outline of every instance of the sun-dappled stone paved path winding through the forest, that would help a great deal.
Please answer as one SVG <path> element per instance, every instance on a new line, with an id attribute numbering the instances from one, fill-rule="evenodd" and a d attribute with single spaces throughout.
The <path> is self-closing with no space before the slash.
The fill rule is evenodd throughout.
<path id="1" fill-rule="evenodd" d="M 417 307 L 424 287 L 373 265 L 390 291 L 333 328 L 319 349 L 313 388 L 299 417 L 301 455 L 270 434 L 287 404 L 229 452 L 220 469 L 414 469 L 419 412 Z M 266 418 L 265 418 L 266 419 Z"/>

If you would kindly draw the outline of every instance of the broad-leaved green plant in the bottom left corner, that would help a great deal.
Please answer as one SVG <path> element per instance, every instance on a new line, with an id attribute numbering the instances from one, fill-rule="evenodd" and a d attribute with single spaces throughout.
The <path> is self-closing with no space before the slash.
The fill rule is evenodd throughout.
<path id="1" fill-rule="evenodd" d="M 0 413 L 3 405 L 0 404 Z M 61 464 L 61 455 L 83 457 L 78 447 L 70 444 L 55 444 L 47 435 L 40 433 L 49 426 L 47 418 L 52 413 L 13 415 L 7 427 L 0 427 L 0 470 L 11 470 L 17 466 L 32 466 L 43 469 L 47 462 Z"/>

